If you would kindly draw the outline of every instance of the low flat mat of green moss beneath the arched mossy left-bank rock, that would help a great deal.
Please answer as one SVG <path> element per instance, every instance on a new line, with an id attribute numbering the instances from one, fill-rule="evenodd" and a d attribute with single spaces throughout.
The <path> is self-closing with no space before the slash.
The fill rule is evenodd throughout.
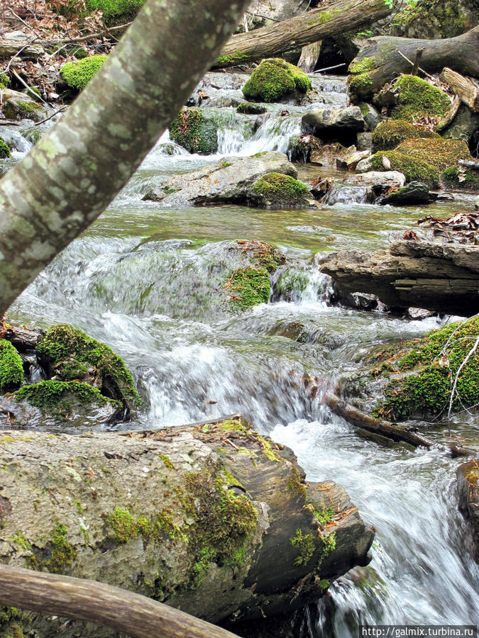
<path id="1" fill-rule="evenodd" d="M 16 401 L 28 401 L 35 408 L 45 410 L 60 418 L 72 413 L 74 403 L 80 405 L 105 405 L 117 401 L 103 396 L 98 388 L 79 381 L 39 381 L 38 384 L 21 387 L 15 395 Z"/>

